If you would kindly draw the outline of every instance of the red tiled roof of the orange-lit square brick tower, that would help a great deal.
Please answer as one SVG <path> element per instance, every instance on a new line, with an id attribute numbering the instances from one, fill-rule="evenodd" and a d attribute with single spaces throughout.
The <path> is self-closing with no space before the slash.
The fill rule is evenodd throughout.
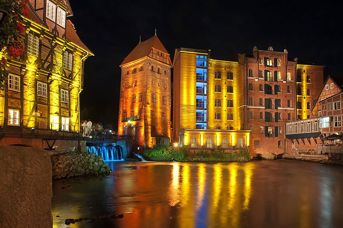
<path id="1" fill-rule="evenodd" d="M 169 55 L 162 42 L 155 35 L 147 40 L 144 40 L 143 42 L 138 43 L 137 46 L 135 46 L 135 48 L 128 54 L 128 56 L 126 56 L 120 66 L 148 56 L 152 48 Z"/>

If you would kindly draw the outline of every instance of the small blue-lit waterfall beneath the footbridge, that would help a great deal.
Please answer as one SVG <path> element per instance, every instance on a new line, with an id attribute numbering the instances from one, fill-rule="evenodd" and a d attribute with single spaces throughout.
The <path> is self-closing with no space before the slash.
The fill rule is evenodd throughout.
<path id="1" fill-rule="evenodd" d="M 120 146 L 87 146 L 87 151 L 102 157 L 104 161 L 123 161 L 125 158 Z"/>

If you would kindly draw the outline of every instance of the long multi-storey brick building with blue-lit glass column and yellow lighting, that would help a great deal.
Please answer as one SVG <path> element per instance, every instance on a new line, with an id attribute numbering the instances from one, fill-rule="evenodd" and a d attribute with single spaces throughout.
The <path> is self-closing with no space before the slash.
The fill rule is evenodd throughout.
<path id="1" fill-rule="evenodd" d="M 323 82 L 323 66 L 297 64 L 271 46 L 233 61 L 178 48 L 173 65 L 174 139 L 194 148 L 283 153 L 285 121 L 310 118 Z"/>

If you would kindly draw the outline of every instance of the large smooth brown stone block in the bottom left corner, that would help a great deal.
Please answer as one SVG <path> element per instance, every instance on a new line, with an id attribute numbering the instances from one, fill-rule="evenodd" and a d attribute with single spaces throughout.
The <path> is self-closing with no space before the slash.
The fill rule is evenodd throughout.
<path id="1" fill-rule="evenodd" d="M 52 227 L 48 152 L 0 146 L 0 161 L 0 227 Z"/>

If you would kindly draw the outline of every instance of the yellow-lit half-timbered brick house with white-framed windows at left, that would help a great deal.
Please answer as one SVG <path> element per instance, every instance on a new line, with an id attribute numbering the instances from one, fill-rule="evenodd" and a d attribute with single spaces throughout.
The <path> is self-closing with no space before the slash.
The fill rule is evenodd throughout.
<path id="1" fill-rule="evenodd" d="M 10 74 L 0 92 L 0 125 L 79 131 L 84 61 L 94 54 L 68 19 L 68 0 L 28 1 L 27 10 L 27 52 L 20 59 L 4 55 Z"/>

